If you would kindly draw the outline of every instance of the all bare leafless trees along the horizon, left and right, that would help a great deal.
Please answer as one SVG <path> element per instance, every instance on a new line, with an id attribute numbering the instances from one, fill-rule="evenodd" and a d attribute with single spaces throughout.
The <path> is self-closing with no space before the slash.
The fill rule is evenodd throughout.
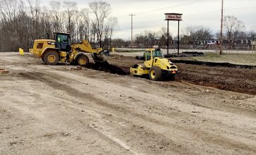
<path id="1" fill-rule="evenodd" d="M 117 18 L 111 16 L 111 6 L 105 1 L 94 1 L 88 8 L 78 9 L 73 1 L 50 1 L 42 6 L 40 0 L 0 0 L 0 51 L 26 51 L 33 40 L 47 38 L 47 33 L 69 32 L 71 44 L 86 39 L 94 48 L 111 46 L 130 46 L 130 40 L 112 39 L 117 28 Z M 238 39 L 255 40 L 255 30 L 246 31 L 242 20 L 234 16 L 224 16 L 224 40 L 231 44 Z M 167 28 L 144 30 L 134 36 L 135 46 L 165 46 Z M 170 43 L 177 42 L 177 36 L 169 35 Z M 201 25 L 185 27 L 180 35 L 180 44 L 201 44 L 205 39 L 219 39 L 220 32 L 213 33 Z"/>

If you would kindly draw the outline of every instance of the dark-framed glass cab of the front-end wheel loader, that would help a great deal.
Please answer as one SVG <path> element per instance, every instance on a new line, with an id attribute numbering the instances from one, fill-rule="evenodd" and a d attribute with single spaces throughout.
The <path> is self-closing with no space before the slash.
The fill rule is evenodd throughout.
<path id="1" fill-rule="evenodd" d="M 54 32 L 54 40 L 55 45 L 60 51 L 69 52 L 71 50 L 70 44 L 70 34 L 69 33 L 61 33 Z"/>

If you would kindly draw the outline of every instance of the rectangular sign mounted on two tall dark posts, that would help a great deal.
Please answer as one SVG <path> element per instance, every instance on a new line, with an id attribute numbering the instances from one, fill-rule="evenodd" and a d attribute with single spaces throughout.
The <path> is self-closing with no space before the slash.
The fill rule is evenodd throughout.
<path id="1" fill-rule="evenodd" d="M 169 54 L 169 20 L 178 21 L 178 55 L 180 55 L 180 20 L 182 20 L 182 14 L 180 13 L 165 13 L 165 20 L 168 22 L 167 28 L 167 55 Z"/>

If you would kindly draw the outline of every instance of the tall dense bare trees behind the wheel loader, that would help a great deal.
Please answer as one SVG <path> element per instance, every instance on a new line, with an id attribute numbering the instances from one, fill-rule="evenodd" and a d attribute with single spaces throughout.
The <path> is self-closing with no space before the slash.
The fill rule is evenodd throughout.
<path id="1" fill-rule="evenodd" d="M 88 8 L 78 9 L 73 1 L 0 0 L 0 51 L 28 50 L 33 40 L 53 37 L 53 32 L 71 34 L 71 44 L 88 40 L 94 47 L 110 48 L 117 18 L 111 6 L 94 1 Z"/>

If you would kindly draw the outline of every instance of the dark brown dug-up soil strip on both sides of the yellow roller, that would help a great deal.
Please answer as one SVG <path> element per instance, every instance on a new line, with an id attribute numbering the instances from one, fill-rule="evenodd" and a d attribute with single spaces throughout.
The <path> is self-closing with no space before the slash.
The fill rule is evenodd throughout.
<path id="1" fill-rule="evenodd" d="M 144 61 L 136 60 L 132 56 L 110 57 L 110 64 L 117 66 L 117 73 L 122 75 L 129 74 L 130 66 Z M 172 58 L 170 58 L 172 61 Z M 177 81 L 190 82 L 195 85 L 207 87 L 216 87 L 218 89 L 241 92 L 245 94 L 256 94 L 256 67 L 246 68 L 228 68 L 221 66 L 199 66 L 185 63 L 175 63 L 180 73 L 176 76 Z M 105 68 L 107 71 L 109 67 Z M 93 69 L 95 66 L 93 66 Z M 101 68 L 102 69 L 102 68 Z M 120 71 L 122 70 L 122 72 Z"/>

